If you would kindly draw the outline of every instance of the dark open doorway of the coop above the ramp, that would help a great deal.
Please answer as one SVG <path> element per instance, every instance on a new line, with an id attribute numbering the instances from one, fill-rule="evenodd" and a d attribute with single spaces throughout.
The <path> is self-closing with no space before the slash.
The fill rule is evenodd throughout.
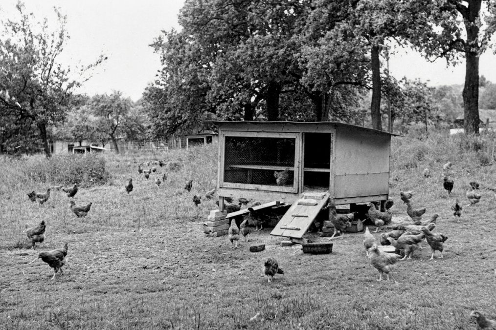
<path id="1" fill-rule="evenodd" d="M 329 190 L 332 133 L 303 133 L 303 192 Z"/>

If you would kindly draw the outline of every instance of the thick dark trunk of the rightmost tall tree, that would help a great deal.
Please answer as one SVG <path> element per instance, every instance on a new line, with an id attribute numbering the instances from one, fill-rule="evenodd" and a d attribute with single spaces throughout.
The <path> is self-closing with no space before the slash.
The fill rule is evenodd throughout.
<path id="1" fill-rule="evenodd" d="M 463 87 L 463 128 L 466 134 L 479 134 L 479 26 L 481 0 L 469 0 L 461 14 L 465 20 L 465 85 Z M 460 7 L 461 8 L 461 7 Z"/>

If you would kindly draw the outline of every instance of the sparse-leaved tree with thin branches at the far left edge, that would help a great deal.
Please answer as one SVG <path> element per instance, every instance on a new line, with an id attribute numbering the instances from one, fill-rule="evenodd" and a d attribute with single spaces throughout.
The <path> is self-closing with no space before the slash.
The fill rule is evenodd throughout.
<path id="1" fill-rule="evenodd" d="M 10 116 L 15 125 L 36 127 L 47 157 L 50 127 L 61 123 L 71 105 L 75 88 L 85 80 L 70 78 L 71 69 L 58 62 L 68 38 L 66 17 L 57 9 L 58 27 L 51 29 L 48 19 L 36 22 L 32 13 L 25 13 L 18 2 L 18 21 L 2 20 L 0 40 L 0 104 L 2 117 Z M 103 56 L 93 64 L 80 68 L 81 74 L 100 64 Z"/>

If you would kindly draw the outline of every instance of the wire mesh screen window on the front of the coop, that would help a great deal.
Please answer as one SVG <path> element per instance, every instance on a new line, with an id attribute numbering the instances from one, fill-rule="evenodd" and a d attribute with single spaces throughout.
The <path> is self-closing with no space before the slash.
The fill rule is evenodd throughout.
<path id="1" fill-rule="evenodd" d="M 224 182 L 293 186 L 294 138 L 226 137 Z"/>

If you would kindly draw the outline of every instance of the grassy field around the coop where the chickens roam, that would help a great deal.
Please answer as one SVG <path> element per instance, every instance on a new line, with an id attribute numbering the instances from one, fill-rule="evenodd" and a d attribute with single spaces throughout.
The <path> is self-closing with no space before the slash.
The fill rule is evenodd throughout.
<path id="1" fill-rule="evenodd" d="M 394 138 L 394 219 L 406 219 L 399 191 L 414 190 L 414 206 L 425 206 L 427 217 L 438 213 L 435 231 L 449 237 L 443 259 L 429 260 L 427 248 L 398 262 L 399 283 L 376 281 L 362 233 L 334 239 L 327 255 L 304 254 L 300 245 L 281 247 L 282 238 L 270 236 L 271 229 L 254 232 L 248 243 L 240 240 L 235 250 L 227 236 L 205 236 L 202 223 L 216 205 L 203 200 L 196 208 L 192 196 L 215 186 L 216 146 L 105 155 L 110 181 L 75 196 L 76 204 L 93 202 L 85 219 L 73 219 L 62 191 L 52 191 L 42 206 L 28 200 L 28 191 L 60 184 L 26 175 L 43 162 L 40 157 L 3 158 L 0 329 L 475 329 L 472 310 L 496 316 L 496 198 L 485 189 L 496 186 L 496 165 L 491 137 L 474 139 Z M 160 188 L 154 181 L 164 168 L 151 165 L 158 170 L 149 180 L 136 170 L 138 163 L 158 159 L 183 164 L 167 173 Z M 442 188 L 448 160 L 454 163 L 453 195 L 464 205 L 468 182 L 481 184 L 481 202 L 464 207 L 459 221 L 450 210 L 454 197 Z M 427 166 L 432 178 L 422 176 Z M 129 178 L 134 190 L 127 194 Z M 183 189 L 188 178 L 191 192 Z M 30 250 L 25 224 L 41 220 L 46 240 Z M 51 281 L 47 264 L 29 264 L 39 251 L 64 242 L 62 276 Z M 248 251 L 260 243 L 264 251 Z M 285 271 L 272 283 L 262 274 L 269 256 Z"/>

